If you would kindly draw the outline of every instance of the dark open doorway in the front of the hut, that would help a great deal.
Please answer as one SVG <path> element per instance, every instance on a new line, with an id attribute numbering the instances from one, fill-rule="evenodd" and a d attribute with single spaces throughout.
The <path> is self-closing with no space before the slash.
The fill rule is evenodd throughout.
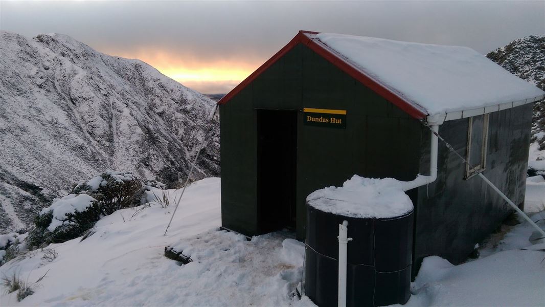
<path id="1" fill-rule="evenodd" d="M 257 110 L 259 231 L 295 230 L 297 111 Z"/>

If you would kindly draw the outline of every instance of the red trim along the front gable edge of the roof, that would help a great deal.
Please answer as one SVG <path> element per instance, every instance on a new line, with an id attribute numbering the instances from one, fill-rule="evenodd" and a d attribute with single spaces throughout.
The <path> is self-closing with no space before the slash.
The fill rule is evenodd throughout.
<path id="1" fill-rule="evenodd" d="M 422 119 L 426 117 L 427 113 L 425 110 L 403 99 L 402 97 L 400 97 L 399 94 L 395 93 L 391 89 L 385 87 L 384 85 L 381 85 L 376 80 L 367 76 L 364 72 L 354 67 L 354 65 L 350 64 L 341 55 L 338 55 L 338 53 L 334 52 L 329 47 L 322 44 L 319 40 L 311 38 L 311 35 L 313 36 L 318 33 L 319 32 L 299 31 L 299 33 L 295 35 L 295 37 L 286 46 L 284 46 L 280 51 L 276 52 L 274 56 L 272 56 L 263 65 L 261 65 L 261 67 L 259 67 L 256 71 L 254 71 L 244 81 L 240 82 L 240 84 L 236 86 L 231 92 L 229 92 L 222 99 L 220 99 L 220 101 L 218 101 L 217 104 L 220 104 L 220 105 L 226 104 L 227 101 L 231 100 L 231 98 L 237 95 L 243 88 L 249 85 L 253 80 L 255 80 L 257 76 L 261 75 L 263 71 L 267 70 L 272 64 L 278 61 L 279 58 L 285 55 L 288 51 L 292 50 L 293 47 L 295 47 L 297 44 L 301 43 L 309 47 L 314 52 L 318 53 L 318 55 L 322 56 L 323 58 L 325 58 L 326 60 L 334 64 L 336 67 L 338 67 L 339 69 L 341 69 L 348 75 L 352 76 L 354 79 L 361 82 L 366 87 L 372 89 L 381 97 L 384 97 L 385 99 L 389 100 L 392 104 L 398 106 L 399 109 L 408 113 L 410 116 L 417 119 Z"/>

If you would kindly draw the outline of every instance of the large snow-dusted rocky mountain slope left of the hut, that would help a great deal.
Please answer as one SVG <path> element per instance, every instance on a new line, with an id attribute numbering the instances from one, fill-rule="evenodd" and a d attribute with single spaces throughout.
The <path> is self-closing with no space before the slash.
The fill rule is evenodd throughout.
<path id="1" fill-rule="evenodd" d="M 214 101 L 61 34 L 0 37 L 0 231 L 106 170 L 179 186 Z M 219 122 L 192 179 L 219 176 Z"/>

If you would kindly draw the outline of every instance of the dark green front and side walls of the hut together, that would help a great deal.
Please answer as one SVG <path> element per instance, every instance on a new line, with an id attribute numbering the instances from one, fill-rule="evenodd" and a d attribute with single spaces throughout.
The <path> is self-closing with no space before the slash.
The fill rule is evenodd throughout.
<path id="1" fill-rule="evenodd" d="M 305 198 L 341 185 L 353 174 L 411 180 L 428 174 L 429 132 L 403 111 L 299 45 L 220 108 L 222 225 L 259 234 L 256 109 L 303 107 L 347 110 L 347 128 L 303 125 L 298 112 L 297 236 L 304 239 Z M 522 203 L 530 138 L 531 105 L 489 118 L 485 175 Z M 439 132 L 465 155 L 468 119 L 445 122 Z M 410 192 L 415 203 L 416 266 L 439 255 L 458 263 L 510 213 L 479 177 L 439 144 L 438 179 Z M 281 188 L 281 183 L 278 183 Z"/>

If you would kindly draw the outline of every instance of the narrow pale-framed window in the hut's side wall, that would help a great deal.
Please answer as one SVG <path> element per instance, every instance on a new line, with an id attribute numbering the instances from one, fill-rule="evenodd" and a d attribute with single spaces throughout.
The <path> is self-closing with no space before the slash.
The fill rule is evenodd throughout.
<path id="1" fill-rule="evenodd" d="M 468 149 L 465 159 L 475 167 L 465 165 L 465 178 L 468 179 L 482 172 L 486 167 L 486 148 L 488 143 L 488 114 L 469 118 Z"/>

